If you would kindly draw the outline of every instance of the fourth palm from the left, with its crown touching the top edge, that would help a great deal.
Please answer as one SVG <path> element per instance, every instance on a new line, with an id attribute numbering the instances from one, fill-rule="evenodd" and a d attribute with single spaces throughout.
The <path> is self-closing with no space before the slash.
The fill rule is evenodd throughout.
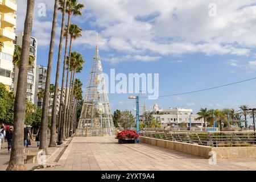
<path id="1" fill-rule="evenodd" d="M 77 15 L 82 15 L 81 9 L 83 9 L 85 6 L 78 3 L 78 0 L 67 0 L 67 3 L 65 4 L 64 0 L 59 0 L 60 7 L 59 10 L 62 11 L 63 13 L 68 14 L 68 24 L 67 24 L 67 31 L 69 32 L 69 26 L 70 26 L 70 20 L 71 20 L 71 15 L 77 16 Z M 66 5 L 66 8 L 64 10 L 64 6 Z M 65 79 L 65 63 L 66 63 L 66 58 L 67 58 L 67 51 L 68 51 L 68 36 L 66 36 L 66 42 L 65 42 L 65 54 L 64 54 L 64 63 L 63 63 L 63 75 L 62 75 L 62 82 L 61 82 L 61 93 L 63 93 L 64 90 L 64 79 Z M 69 56 L 70 57 L 70 56 Z M 69 64 L 68 64 L 68 69 L 67 69 L 67 81 L 66 81 L 66 88 L 65 88 L 65 108 L 67 107 L 67 93 L 68 93 L 68 73 L 69 73 Z M 60 103 L 62 103 L 63 98 L 62 94 L 60 97 Z M 65 139 L 65 131 L 66 131 L 66 123 L 65 123 L 65 117 L 67 114 L 67 110 L 64 108 L 64 114 L 63 114 L 63 130 L 62 130 L 62 137 Z M 61 117 L 60 117 L 61 119 Z M 59 121 L 61 121 L 59 119 Z"/>

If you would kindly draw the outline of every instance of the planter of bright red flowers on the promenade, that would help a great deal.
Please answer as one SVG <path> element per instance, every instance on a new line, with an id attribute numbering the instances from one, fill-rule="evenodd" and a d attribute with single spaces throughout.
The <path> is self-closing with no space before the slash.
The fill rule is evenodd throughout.
<path id="1" fill-rule="evenodd" d="M 137 138 L 139 138 L 139 134 L 133 130 L 123 130 L 118 132 L 117 137 L 118 143 L 136 143 Z"/>

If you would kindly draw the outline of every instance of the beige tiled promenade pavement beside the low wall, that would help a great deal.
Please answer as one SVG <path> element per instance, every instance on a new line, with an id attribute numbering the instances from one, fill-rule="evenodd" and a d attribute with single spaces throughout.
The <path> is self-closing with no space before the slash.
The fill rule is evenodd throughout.
<path id="1" fill-rule="evenodd" d="M 38 170 L 256 170 L 256 159 L 208 159 L 114 137 L 74 137 L 57 166 Z"/>

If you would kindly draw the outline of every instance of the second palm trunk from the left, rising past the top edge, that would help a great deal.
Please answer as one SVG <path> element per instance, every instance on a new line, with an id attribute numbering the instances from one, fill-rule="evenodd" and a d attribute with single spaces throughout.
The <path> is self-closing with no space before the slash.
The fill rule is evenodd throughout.
<path id="1" fill-rule="evenodd" d="M 59 7 L 59 1 L 55 0 L 54 13 L 52 19 L 52 32 L 51 32 L 51 42 L 49 47 L 49 56 L 48 56 L 48 66 L 47 66 L 47 76 L 46 76 L 46 89 L 44 91 L 44 100 L 43 100 L 43 110 L 42 110 L 42 119 L 41 119 L 41 131 L 40 131 L 40 145 L 39 149 L 43 149 L 47 154 L 47 129 L 48 129 L 48 107 L 49 107 L 49 89 L 51 84 L 51 72 L 52 72 L 52 56 L 53 49 L 55 44 L 55 35 L 56 35 L 56 23 L 57 23 L 57 10 Z M 55 132 L 55 127 L 53 127 L 52 132 Z"/>

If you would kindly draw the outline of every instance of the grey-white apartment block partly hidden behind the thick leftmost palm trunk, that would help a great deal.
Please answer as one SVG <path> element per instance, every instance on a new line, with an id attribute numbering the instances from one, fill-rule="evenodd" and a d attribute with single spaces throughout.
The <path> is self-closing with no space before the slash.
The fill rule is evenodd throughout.
<path id="1" fill-rule="evenodd" d="M 22 47 L 22 38 L 23 38 L 23 32 L 18 32 L 16 33 L 14 44 L 15 46 L 20 46 Z M 36 55 L 37 55 L 37 41 L 35 38 L 31 37 L 30 39 L 30 56 L 34 56 L 34 64 L 30 65 L 28 67 L 28 72 L 27 72 L 27 99 L 31 101 L 33 104 L 36 104 L 35 102 L 35 87 L 36 87 Z M 17 68 L 13 64 L 13 73 L 11 73 L 11 78 L 13 78 L 13 82 L 11 85 L 11 91 L 16 93 L 16 86 L 18 82 L 18 74 L 19 74 L 19 68 Z"/>

